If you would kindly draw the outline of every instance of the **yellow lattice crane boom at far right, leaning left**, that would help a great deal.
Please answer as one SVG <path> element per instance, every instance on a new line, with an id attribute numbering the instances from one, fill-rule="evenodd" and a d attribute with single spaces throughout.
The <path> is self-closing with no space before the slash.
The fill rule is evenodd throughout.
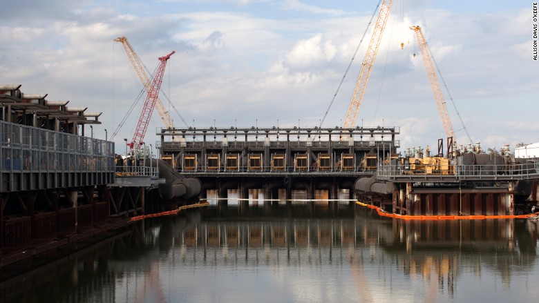
<path id="1" fill-rule="evenodd" d="M 444 96 L 442 95 L 442 90 L 439 88 L 438 79 L 436 77 L 436 72 L 434 70 L 433 60 L 431 59 L 431 51 L 428 49 L 425 37 L 419 26 L 411 26 L 411 30 L 417 35 L 417 41 L 419 43 L 419 50 L 421 50 L 421 55 L 425 63 L 425 68 L 428 74 L 428 79 L 431 81 L 431 87 L 433 88 L 434 97 L 438 105 L 439 116 L 442 119 L 444 124 L 444 130 L 446 131 L 446 136 L 448 138 L 454 138 L 455 133 L 453 133 L 453 126 L 451 125 L 451 120 L 447 113 L 446 101 L 444 101 Z"/>

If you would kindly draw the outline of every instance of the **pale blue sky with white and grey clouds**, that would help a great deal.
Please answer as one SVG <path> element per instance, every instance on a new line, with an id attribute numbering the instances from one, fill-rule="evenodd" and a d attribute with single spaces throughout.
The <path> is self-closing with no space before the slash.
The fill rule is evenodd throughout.
<path id="1" fill-rule="evenodd" d="M 145 99 L 122 44 L 113 41 L 125 36 L 151 72 L 158 57 L 176 51 L 161 86 L 170 101 L 161 99 L 178 127 L 314 127 L 329 107 L 323 127 L 334 128 L 350 104 L 377 3 L 7 0 L 0 84 L 102 112 L 93 135 L 104 139 L 106 129 L 121 153 Z M 438 76 L 457 143 L 513 150 L 538 142 L 532 3 L 395 0 L 355 125 L 398 127 L 401 150 L 445 137 L 409 29 L 419 25 L 447 87 Z M 153 113 L 144 141 L 158 141 L 161 127 Z"/>

